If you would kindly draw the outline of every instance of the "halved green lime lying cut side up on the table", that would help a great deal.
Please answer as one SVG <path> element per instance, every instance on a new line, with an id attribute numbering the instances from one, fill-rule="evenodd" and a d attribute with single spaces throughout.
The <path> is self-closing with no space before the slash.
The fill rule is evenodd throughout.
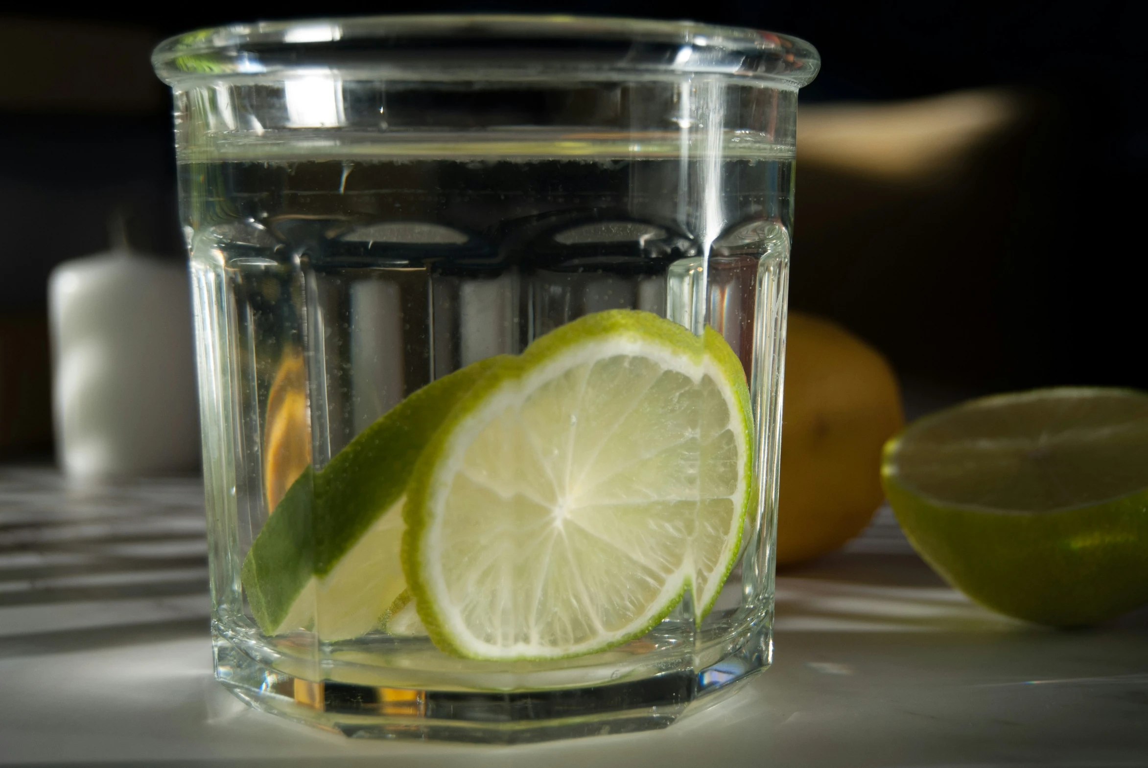
<path id="1" fill-rule="evenodd" d="M 974 400 L 890 440 L 882 478 L 917 551 L 988 608 L 1075 626 L 1148 602 L 1148 393 Z"/>

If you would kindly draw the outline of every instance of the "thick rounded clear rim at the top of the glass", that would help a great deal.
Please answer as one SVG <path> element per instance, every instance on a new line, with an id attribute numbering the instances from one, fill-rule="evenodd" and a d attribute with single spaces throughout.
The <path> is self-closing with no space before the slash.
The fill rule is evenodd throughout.
<path id="1" fill-rule="evenodd" d="M 152 63 L 177 89 L 316 70 L 472 81 L 708 76 L 797 89 L 816 77 L 821 58 L 800 38 L 691 21 L 444 14 L 228 24 L 164 40 Z"/>

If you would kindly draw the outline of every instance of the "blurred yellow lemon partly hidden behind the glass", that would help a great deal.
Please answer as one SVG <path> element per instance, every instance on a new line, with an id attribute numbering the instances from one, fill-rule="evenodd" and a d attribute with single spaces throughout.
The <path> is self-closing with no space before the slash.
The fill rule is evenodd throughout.
<path id="1" fill-rule="evenodd" d="M 902 425 L 884 356 L 840 326 L 791 312 L 777 563 L 824 555 L 881 506 L 881 450 Z"/>

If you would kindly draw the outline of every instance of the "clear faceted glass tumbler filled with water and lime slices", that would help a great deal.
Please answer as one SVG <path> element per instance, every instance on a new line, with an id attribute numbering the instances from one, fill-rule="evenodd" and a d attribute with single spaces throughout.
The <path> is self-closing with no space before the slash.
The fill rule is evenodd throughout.
<path id="1" fill-rule="evenodd" d="M 225 685 L 518 742 L 664 727 L 768 666 L 809 45 L 377 17 L 154 62 Z"/>

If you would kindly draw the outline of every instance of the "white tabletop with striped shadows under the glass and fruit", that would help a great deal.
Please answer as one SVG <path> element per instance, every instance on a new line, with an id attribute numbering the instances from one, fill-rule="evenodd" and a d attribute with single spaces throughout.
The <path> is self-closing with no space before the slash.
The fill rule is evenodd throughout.
<path id="1" fill-rule="evenodd" d="M 776 660 L 670 728 L 526 746 L 348 739 L 211 677 L 200 487 L 0 469 L 0 765 L 1145 766 L 1148 610 L 1014 622 L 946 587 L 887 510 L 778 578 Z"/>

